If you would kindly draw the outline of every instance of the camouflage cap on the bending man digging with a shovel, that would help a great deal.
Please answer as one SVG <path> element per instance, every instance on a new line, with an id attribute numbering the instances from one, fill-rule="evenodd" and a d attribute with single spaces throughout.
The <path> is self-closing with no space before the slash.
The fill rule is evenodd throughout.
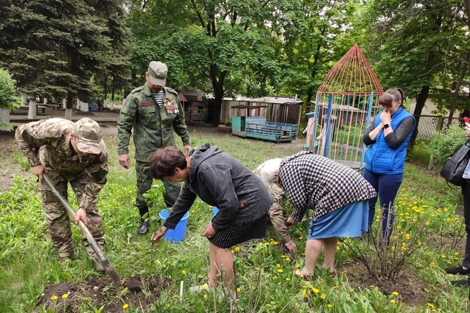
<path id="1" fill-rule="evenodd" d="M 101 128 L 94 120 L 84 117 L 75 123 L 73 134 L 77 140 L 77 148 L 81 152 L 99 154 L 103 149 Z"/>

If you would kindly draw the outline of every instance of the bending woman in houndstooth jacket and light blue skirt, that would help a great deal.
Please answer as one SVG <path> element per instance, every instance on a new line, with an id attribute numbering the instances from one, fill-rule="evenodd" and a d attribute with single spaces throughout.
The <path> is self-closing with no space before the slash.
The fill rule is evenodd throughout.
<path id="1" fill-rule="evenodd" d="M 359 237 L 368 230 L 368 200 L 376 196 L 374 188 L 351 168 L 311 151 L 267 161 L 261 179 L 278 183 L 289 196 L 294 211 L 287 219 L 288 228 L 302 220 L 306 210 L 313 210 L 305 265 L 295 274 L 309 278 L 322 248 L 323 268 L 334 273 L 338 237 Z"/>

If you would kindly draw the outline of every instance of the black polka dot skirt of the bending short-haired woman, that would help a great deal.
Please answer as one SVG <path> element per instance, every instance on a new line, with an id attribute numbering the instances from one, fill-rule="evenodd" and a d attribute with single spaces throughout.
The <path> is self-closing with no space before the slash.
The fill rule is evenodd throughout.
<path id="1" fill-rule="evenodd" d="M 258 220 L 242 224 L 230 224 L 227 228 L 218 230 L 212 238 L 208 238 L 212 245 L 226 249 L 245 241 L 263 238 L 266 235 L 268 214 L 264 214 Z"/>

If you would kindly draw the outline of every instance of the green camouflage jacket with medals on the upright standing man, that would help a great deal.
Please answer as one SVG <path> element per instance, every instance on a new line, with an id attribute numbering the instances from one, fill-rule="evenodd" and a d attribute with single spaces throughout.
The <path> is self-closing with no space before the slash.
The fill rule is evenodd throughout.
<path id="1" fill-rule="evenodd" d="M 164 87 L 162 107 L 155 102 L 147 83 L 131 91 L 118 120 L 118 155 L 129 153 L 129 139 L 134 127 L 136 160 L 148 162 L 158 148 L 175 145 L 173 130 L 189 145 L 188 127 L 178 93 Z"/>

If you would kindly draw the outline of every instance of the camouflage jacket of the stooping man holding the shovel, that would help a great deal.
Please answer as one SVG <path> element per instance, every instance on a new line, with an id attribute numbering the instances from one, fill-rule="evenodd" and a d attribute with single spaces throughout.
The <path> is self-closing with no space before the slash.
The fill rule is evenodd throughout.
<path id="1" fill-rule="evenodd" d="M 69 181 L 85 177 L 85 197 L 79 207 L 85 210 L 96 201 L 108 177 L 108 151 L 103 141 L 100 154 L 79 156 L 72 148 L 70 133 L 74 123 L 62 118 L 49 118 L 23 124 L 15 138 L 31 166 L 43 164 L 47 170 L 64 175 Z"/>

